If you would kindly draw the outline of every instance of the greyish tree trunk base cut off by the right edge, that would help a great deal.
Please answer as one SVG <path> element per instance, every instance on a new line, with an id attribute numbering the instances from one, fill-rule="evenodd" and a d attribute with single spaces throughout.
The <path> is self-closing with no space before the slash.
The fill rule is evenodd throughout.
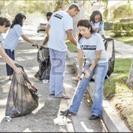
<path id="1" fill-rule="evenodd" d="M 130 89 L 133 89 L 133 63 L 131 65 L 131 69 L 129 71 L 129 76 L 127 80 L 127 85 Z"/>

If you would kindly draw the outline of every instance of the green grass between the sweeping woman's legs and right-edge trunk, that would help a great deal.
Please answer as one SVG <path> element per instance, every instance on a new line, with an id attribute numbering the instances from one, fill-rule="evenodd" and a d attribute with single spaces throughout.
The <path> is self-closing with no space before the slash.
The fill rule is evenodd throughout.
<path id="1" fill-rule="evenodd" d="M 114 73 L 109 80 L 105 81 L 104 96 L 110 100 L 117 92 L 117 85 L 125 85 L 128 78 L 129 69 L 131 66 L 131 59 L 116 59 Z"/>

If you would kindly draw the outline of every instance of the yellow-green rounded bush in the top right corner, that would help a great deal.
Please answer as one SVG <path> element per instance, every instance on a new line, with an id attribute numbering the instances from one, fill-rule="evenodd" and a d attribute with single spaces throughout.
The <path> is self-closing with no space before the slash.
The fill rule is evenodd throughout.
<path id="1" fill-rule="evenodd" d="M 132 8 L 130 4 L 119 6 L 117 9 L 113 11 L 113 18 L 124 18 L 129 17 L 133 14 Z"/>

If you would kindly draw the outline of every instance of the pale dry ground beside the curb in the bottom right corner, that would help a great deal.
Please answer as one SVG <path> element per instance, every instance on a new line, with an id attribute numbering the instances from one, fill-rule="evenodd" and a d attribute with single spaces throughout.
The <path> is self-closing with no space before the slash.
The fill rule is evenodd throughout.
<path id="1" fill-rule="evenodd" d="M 120 91 L 121 90 L 121 91 Z M 126 85 L 117 84 L 116 94 L 111 103 L 119 111 L 121 118 L 133 131 L 133 91 Z"/>

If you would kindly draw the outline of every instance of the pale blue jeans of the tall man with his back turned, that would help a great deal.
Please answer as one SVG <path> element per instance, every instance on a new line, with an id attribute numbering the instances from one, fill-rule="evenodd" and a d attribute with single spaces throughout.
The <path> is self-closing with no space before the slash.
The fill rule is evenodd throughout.
<path id="1" fill-rule="evenodd" d="M 49 50 L 51 61 L 49 92 L 55 96 L 62 96 L 64 91 L 63 80 L 66 52 L 60 52 L 54 49 Z"/>

